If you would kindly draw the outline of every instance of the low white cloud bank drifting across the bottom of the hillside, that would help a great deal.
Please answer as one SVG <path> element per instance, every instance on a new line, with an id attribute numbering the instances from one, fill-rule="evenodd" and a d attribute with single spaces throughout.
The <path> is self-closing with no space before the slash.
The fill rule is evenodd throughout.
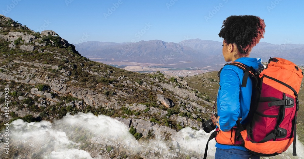
<path id="1" fill-rule="evenodd" d="M 144 158 L 202 158 L 210 134 L 189 127 L 173 133 L 169 140 L 137 141 L 129 127 L 108 116 L 92 113 L 67 114 L 53 123 L 27 123 L 21 119 L 10 125 L 10 154 L 19 158 L 109 158 L 115 156 Z M 1 143 L 0 143 L 1 144 Z M 2 145 L 3 147 L 3 145 Z M 304 157 L 304 147 L 297 141 L 297 158 Z M 3 148 L 0 150 L 4 154 Z M 215 140 L 209 142 L 208 157 L 214 158 Z M 293 158 L 292 145 L 276 157 Z"/>

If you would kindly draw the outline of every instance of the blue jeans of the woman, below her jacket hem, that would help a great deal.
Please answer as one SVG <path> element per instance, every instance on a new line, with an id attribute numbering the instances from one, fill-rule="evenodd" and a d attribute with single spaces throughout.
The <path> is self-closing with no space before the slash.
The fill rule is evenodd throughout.
<path id="1" fill-rule="evenodd" d="M 250 154 L 248 151 L 239 149 L 221 149 L 216 148 L 215 159 L 259 159 L 259 156 Z"/>

